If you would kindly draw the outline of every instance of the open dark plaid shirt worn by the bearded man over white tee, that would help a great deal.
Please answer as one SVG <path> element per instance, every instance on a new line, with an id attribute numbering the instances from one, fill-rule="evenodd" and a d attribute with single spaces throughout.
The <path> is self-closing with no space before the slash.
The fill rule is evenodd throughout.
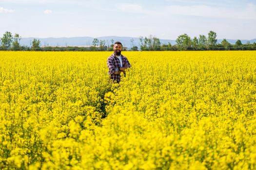
<path id="1" fill-rule="evenodd" d="M 122 64 L 123 64 L 123 67 L 126 63 L 128 63 L 128 68 L 131 67 L 128 59 L 121 54 L 121 58 L 122 58 Z M 119 71 L 119 68 L 120 68 L 120 61 L 118 59 L 118 57 L 115 56 L 115 54 L 113 53 L 111 56 L 108 57 L 108 60 L 107 60 L 107 64 L 108 64 L 108 74 L 110 75 L 110 79 L 114 81 L 117 81 L 117 83 L 120 82 L 120 74 L 115 74 Z M 125 75 L 125 72 L 124 72 L 124 75 Z"/>

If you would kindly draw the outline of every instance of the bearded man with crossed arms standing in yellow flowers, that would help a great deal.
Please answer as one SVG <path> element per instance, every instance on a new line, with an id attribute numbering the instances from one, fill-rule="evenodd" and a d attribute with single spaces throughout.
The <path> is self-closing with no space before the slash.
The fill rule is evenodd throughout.
<path id="1" fill-rule="evenodd" d="M 120 82 L 120 73 L 123 72 L 125 75 L 125 70 L 130 68 L 131 65 L 128 59 L 121 54 L 122 51 L 122 44 L 120 42 L 115 42 L 113 47 L 114 53 L 108 57 L 107 64 L 108 64 L 108 74 L 110 75 L 110 79 L 113 82 Z"/>

